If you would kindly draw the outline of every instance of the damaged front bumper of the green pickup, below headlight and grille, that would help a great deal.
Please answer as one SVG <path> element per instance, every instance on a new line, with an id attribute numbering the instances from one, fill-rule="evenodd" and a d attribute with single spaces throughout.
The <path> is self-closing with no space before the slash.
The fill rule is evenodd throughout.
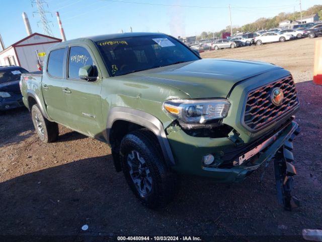
<path id="1" fill-rule="evenodd" d="M 168 139 L 171 145 L 173 147 L 175 146 L 174 148 L 179 148 L 179 146 L 181 146 L 180 154 L 175 154 L 176 161 L 179 161 L 177 165 L 173 167 L 175 170 L 177 170 L 178 172 L 209 177 L 220 183 L 233 183 L 244 180 L 246 176 L 248 176 L 254 170 L 259 168 L 263 163 L 266 163 L 269 160 L 271 160 L 282 146 L 292 146 L 291 142 L 294 139 L 294 137 L 298 134 L 298 132 L 299 128 L 296 122 L 292 121 L 288 123 L 288 125 L 286 125 L 281 130 L 272 135 L 274 136 L 278 133 L 278 135 L 274 137 L 274 141 L 271 142 L 267 147 L 265 147 L 265 149 L 263 149 L 261 152 L 257 154 L 256 159 L 253 159 L 252 162 L 245 161 L 241 165 L 231 166 L 229 168 L 224 168 L 220 165 L 217 167 L 205 166 L 201 162 L 201 157 L 203 155 L 206 155 L 206 152 L 209 152 L 209 150 L 211 150 L 211 147 L 209 146 L 214 145 L 212 149 L 220 150 L 221 148 L 224 149 L 228 146 L 231 147 L 231 141 L 229 141 L 229 143 L 227 142 L 227 140 L 223 138 L 213 139 L 220 140 L 218 141 L 221 143 L 220 147 L 216 147 L 214 143 L 199 143 L 198 146 L 191 146 L 190 143 L 190 147 L 183 147 L 182 142 L 180 143 L 178 142 L 178 140 L 174 141 L 171 139 L 173 136 L 172 134 L 169 134 Z M 183 135 L 182 139 L 184 138 L 188 139 L 189 137 Z M 186 141 L 186 144 L 188 142 L 189 141 Z M 208 146 L 206 147 L 206 145 Z M 248 151 L 250 150 L 247 150 L 245 152 Z M 214 151 L 211 153 L 218 154 L 220 152 L 221 151 Z M 243 155 L 245 152 L 239 153 L 239 155 Z M 221 158 L 224 158 L 225 154 L 223 153 L 221 154 L 221 156 Z M 195 159 L 192 160 L 192 157 L 195 157 Z M 231 163 L 232 162 L 233 160 L 231 160 Z"/>

